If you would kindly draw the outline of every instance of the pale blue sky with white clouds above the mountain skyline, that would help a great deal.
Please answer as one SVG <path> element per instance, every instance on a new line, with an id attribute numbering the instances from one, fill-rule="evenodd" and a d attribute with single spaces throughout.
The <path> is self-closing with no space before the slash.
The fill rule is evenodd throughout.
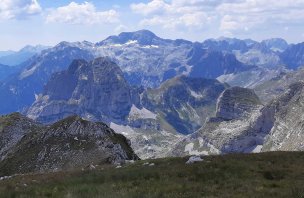
<path id="1" fill-rule="evenodd" d="M 98 42 L 148 29 L 162 38 L 304 41 L 304 0 L 0 0 L 0 50 Z"/>

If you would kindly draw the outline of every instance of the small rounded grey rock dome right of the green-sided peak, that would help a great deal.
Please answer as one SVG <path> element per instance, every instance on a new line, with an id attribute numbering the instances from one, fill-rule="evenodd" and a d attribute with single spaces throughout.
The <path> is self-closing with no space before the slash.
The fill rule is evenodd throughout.
<path id="1" fill-rule="evenodd" d="M 250 113 L 258 105 L 261 105 L 261 102 L 253 90 L 231 87 L 219 97 L 216 117 L 224 120 L 237 119 Z"/>

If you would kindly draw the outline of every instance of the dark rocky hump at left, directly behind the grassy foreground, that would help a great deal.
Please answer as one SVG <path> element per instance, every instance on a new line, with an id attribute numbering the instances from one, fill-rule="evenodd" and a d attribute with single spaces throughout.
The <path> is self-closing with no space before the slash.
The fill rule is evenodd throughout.
<path id="1" fill-rule="evenodd" d="M 13 114 L 4 118 L 1 127 L 5 134 L 14 134 L 16 138 L 11 142 L 1 141 L 9 152 L 1 155 L 0 175 L 68 170 L 139 159 L 123 135 L 103 123 L 89 122 L 78 116 L 43 126 Z M 5 134 L 1 134 L 1 138 L 6 137 Z"/>

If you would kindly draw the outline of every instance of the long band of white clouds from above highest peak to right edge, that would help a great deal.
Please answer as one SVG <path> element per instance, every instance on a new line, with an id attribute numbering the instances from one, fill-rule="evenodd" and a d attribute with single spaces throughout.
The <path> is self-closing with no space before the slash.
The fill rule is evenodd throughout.
<path id="1" fill-rule="evenodd" d="M 222 32 L 267 28 L 269 24 L 303 25 L 304 0 L 151 0 L 131 4 L 141 25 L 164 28 L 218 26 Z"/>

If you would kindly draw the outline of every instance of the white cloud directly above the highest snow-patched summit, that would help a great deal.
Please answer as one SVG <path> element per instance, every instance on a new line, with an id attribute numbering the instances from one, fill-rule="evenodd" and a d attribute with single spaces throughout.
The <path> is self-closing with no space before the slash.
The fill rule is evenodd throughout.
<path id="1" fill-rule="evenodd" d="M 201 28 L 212 20 L 212 17 L 202 9 L 202 7 L 210 6 L 208 2 L 211 0 L 173 0 L 171 2 L 152 0 L 149 3 L 132 4 L 131 9 L 144 16 L 140 22 L 142 26 L 160 25 L 170 29 Z"/>

